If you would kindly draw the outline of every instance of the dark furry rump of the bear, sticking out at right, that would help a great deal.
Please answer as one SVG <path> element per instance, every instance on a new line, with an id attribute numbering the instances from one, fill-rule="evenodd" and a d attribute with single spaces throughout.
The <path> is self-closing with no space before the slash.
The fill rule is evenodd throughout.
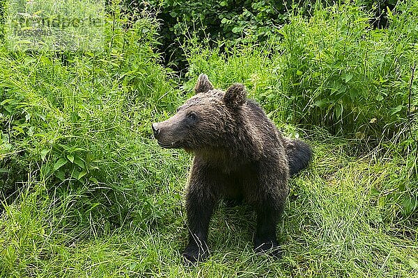
<path id="1" fill-rule="evenodd" d="M 292 176 L 306 168 L 312 158 L 311 147 L 299 139 L 285 138 L 286 154 L 289 163 L 289 173 Z"/>

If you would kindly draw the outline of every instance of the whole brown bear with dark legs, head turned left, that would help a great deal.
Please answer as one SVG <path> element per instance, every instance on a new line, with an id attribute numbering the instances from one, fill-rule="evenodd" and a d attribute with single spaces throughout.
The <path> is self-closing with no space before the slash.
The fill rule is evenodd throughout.
<path id="1" fill-rule="evenodd" d="M 276 238 L 279 215 L 288 195 L 288 179 L 312 156 L 301 140 L 284 138 L 245 86 L 217 90 L 201 74 L 196 95 L 176 115 L 152 125 L 158 144 L 194 153 L 186 195 L 191 262 L 208 256 L 208 226 L 221 198 L 242 199 L 256 211 L 256 252 L 280 256 Z"/>

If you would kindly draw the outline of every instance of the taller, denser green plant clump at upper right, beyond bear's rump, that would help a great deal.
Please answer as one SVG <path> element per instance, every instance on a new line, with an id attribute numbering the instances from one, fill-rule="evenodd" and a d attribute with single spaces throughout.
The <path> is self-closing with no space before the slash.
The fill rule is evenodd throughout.
<path id="1" fill-rule="evenodd" d="M 394 138 L 406 121 L 411 67 L 417 60 L 418 6 L 392 14 L 385 30 L 354 6 L 300 15 L 281 29 L 283 90 L 297 122 L 357 137 Z M 412 107 L 418 105 L 412 99 Z"/>

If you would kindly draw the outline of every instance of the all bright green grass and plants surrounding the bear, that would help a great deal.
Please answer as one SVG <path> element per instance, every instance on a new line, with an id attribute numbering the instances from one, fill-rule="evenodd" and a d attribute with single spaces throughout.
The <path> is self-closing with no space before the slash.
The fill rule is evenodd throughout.
<path id="1" fill-rule="evenodd" d="M 160 65 L 155 16 L 116 3 L 101 51 L 1 42 L 0 277 L 417 277 L 418 1 L 384 29 L 350 4 L 310 13 L 290 11 L 263 42 L 190 31 L 185 80 Z M 249 207 L 219 204 L 210 259 L 183 265 L 192 156 L 161 149 L 150 124 L 202 72 L 245 83 L 315 149 L 291 181 L 279 261 L 254 254 Z"/>

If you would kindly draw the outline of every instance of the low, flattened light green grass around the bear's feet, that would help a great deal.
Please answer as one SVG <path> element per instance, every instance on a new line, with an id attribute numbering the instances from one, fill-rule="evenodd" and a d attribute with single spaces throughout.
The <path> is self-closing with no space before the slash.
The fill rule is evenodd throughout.
<path id="1" fill-rule="evenodd" d="M 160 213 L 155 221 L 130 221 L 98 236 L 80 237 L 77 227 L 63 225 L 69 216 L 66 208 L 77 196 L 56 203 L 45 185 L 32 183 L 1 216 L 1 273 L 5 277 L 418 275 L 417 230 L 385 223 L 375 193 L 390 182 L 396 165 L 358 160 L 347 156 L 344 142 L 322 139 L 313 143 L 316 157 L 311 167 L 291 181 L 279 224 L 284 249 L 279 261 L 254 254 L 255 215 L 250 208 L 220 204 L 210 227 L 210 259 L 185 267 L 180 254 L 187 238 L 181 196 L 189 156 L 160 150 L 148 141 L 148 149 L 167 154 L 163 183 L 146 193 L 150 202 L 162 205 L 155 209 Z"/>

